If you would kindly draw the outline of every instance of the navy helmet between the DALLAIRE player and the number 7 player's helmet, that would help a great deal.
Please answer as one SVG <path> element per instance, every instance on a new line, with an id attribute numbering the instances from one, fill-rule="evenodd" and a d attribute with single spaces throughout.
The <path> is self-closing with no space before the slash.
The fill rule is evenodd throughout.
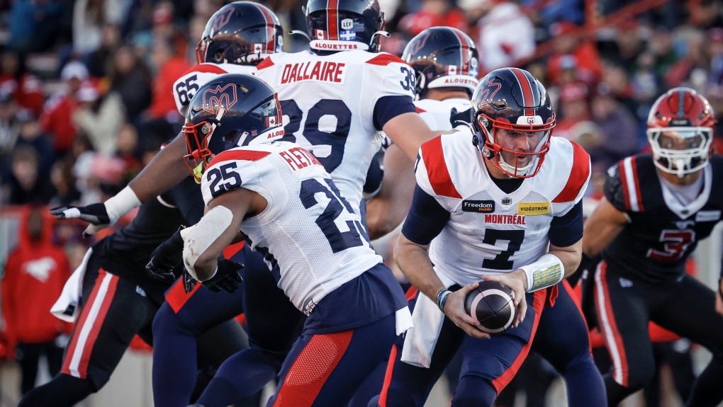
<path id="1" fill-rule="evenodd" d="M 479 53 L 474 41 L 453 27 L 420 32 L 404 48 L 402 59 L 414 68 L 418 97 L 439 87 L 463 87 L 471 96 L 479 82 Z"/>

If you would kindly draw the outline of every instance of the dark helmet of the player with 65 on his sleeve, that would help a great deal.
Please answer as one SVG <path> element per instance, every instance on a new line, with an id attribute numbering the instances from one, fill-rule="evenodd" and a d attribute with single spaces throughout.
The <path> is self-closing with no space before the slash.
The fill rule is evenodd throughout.
<path id="1" fill-rule="evenodd" d="M 196 47 L 198 64 L 257 65 L 283 49 L 278 17 L 252 1 L 223 6 L 208 20 Z"/>

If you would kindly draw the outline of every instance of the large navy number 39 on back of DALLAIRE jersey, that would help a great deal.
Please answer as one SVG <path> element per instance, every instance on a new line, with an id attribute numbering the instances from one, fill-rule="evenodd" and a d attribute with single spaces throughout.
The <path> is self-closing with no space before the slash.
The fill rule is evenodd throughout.
<path id="1" fill-rule="evenodd" d="M 304 112 L 294 100 L 281 100 L 280 103 L 281 112 L 283 115 L 288 115 L 288 124 L 284 126 L 286 134 L 303 136 L 311 144 L 309 150 L 312 150 L 324 169 L 329 173 L 333 172 L 344 157 L 344 144 L 351 128 L 351 110 L 341 100 L 322 99 L 306 113 L 304 129 L 298 134 Z M 333 131 L 322 130 L 323 123 L 320 128 L 324 116 L 333 116 L 335 119 L 336 125 Z M 327 146 L 329 149 L 324 148 Z"/>

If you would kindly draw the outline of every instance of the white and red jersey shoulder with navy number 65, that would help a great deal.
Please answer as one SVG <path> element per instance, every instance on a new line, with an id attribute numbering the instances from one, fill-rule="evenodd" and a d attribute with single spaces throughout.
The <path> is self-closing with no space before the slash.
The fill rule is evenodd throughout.
<path id="1" fill-rule="evenodd" d="M 174 82 L 174 100 L 181 115 L 186 115 L 186 108 L 196 95 L 196 91 L 206 82 L 223 74 L 253 74 L 256 66 L 236 64 L 199 64 L 186 71 Z"/>

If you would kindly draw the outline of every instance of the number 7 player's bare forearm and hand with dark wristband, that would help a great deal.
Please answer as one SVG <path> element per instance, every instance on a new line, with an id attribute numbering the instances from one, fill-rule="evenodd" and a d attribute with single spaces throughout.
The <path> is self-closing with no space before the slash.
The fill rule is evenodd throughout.
<path id="1" fill-rule="evenodd" d="M 428 249 L 429 245 L 419 245 L 408 240 L 403 234 L 399 236 L 394 248 L 394 257 L 404 276 L 429 299 L 432 301 L 436 299 L 440 310 L 469 336 L 489 338 L 487 333 L 476 328 L 479 326 L 479 321 L 464 311 L 464 299 L 477 284 L 467 284 L 456 292 L 448 292 L 432 268 Z"/>

